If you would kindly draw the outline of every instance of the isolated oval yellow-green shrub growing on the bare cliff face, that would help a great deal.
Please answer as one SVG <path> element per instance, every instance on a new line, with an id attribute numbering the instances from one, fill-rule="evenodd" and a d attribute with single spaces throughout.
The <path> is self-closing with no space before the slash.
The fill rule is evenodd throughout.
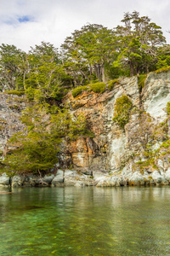
<path id="1" fill-rule="evenodd" d="M 115 113 L 113 121 L 122 128 L 128 123 L 130 110 L 133 108 L 133 102 L 126 95 L 116 99 Z"/>

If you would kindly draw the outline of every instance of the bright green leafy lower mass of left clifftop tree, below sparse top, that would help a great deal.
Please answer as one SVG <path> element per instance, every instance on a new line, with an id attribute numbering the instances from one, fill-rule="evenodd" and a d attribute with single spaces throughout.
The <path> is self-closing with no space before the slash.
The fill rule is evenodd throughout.
<path id="1" fill-rule="evenodd" d="M 36 56 L 33 57 L 36 64 Z M 60 94 L 64 91 L 61 85 L 62 78 L 65 77 L 65 71 L 59 63 L 54 62 L 53 56 L 42 55 L 38 61 L 37 65 L 32 67 L 27 75 L 26 96 L 36 102 L 59 100 Z M 33 65 L 33 63 L 31 64 Z"/>

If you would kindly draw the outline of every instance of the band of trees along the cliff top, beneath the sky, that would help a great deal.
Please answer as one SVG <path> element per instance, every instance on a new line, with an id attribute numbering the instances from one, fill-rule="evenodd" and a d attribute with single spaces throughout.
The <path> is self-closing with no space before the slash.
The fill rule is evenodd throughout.
<path id="1" fill-rule="evenodd" d="M 115 29 L 82 26 L 65 38 L 60 52 L 45 42 L 28 53 L 2 44 L 0 89 L 25 91 L 30 100 L 59 101 L 77 86 L 167 69 L 170 57 L 165 42 L 160 26 L 133 11 Z"/>

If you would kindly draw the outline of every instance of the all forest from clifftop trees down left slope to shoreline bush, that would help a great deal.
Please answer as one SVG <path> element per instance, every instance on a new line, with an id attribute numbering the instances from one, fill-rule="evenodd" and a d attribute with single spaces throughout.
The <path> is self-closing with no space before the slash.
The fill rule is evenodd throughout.
<path id="1" fill-rule="evenodd" d="M 139 12 L 126 13 L 122 26 L 87 24 L 72 32 L 60 49 L 42 42 L 28 53 L 0 46 L 0 90 L 25 96 L 25 131 L 14 134 L 2 152 L 1 172 L 48 172 L 56 164 L 62 139 L 94 135 L 82 116 L 71 117 L 62 99 L 69 91 L 102 93 L 120 77 L 138 76 L 170 66 L 170 45 L 161 27 Z M 65 135 L 66 134 L 66 135 Z M 12 172 L 11 172 L 12 170 Z"/>

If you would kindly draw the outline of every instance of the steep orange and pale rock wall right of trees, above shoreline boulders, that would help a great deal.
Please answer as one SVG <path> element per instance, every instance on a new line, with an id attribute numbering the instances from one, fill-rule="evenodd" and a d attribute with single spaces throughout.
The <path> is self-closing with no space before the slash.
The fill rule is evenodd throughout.
<path id="1" fill-rule="evenodd" d="M 170 101 L 170 72 L 149 73 L 139 92 L 138 78 L 120 80 L 113 90 L 103 94 L 84 91 L 65 98 L 73 116 L 83 113 L 94 138 L 81 137 L 69 145 L 73 168 L 82 172 L 103 172 L 130 182 L 137 172 L 142 180 L 151 181 L 152 173 L 164 174 L 170 155 L 161 147 L 169 134 L 167 102 Z M 113 122 L 116 99 L 127 95 L 133 102 L 130 119 L 124 129 Z M 154 154 L 155 150 L 160 154 Z M 67 148 L 68 150 L 68 148 Z M 68 159 L 67 159 L 68 160 Z M 151 160 L 151 163 L 150 163 Z M 161 161 L 160 167 L 158 162 Z M 164 175 L 165 176 L 165 175 Z"/>

